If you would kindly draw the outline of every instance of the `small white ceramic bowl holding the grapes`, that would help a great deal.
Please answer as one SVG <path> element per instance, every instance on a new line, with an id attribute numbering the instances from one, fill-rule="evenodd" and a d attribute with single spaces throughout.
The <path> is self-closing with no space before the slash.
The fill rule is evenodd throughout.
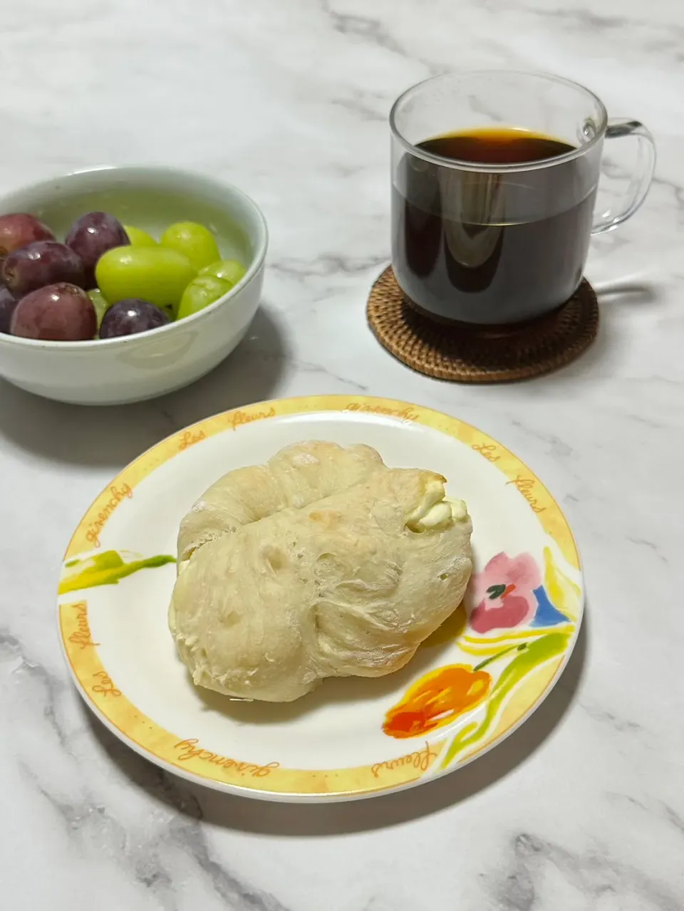
<path id="1" fill-rule="evenodd" d="M 257 311 L 268 246 L 266 222 L 230 184 L 170 168 L 103 168 L 46 180 L 0 197 L 0 213 L 31 212 L 57 240 L 71 222 L 105 210 L 159 237 L 174 221 L 199 221 L 221 256 L 247 274 L 205 310 L 148 333 L 92 342 L 36 342 L 0 333 L 0 375 L 46 398 L 75 404 L 121 404 L 192 383 L 220 363 Z"/>

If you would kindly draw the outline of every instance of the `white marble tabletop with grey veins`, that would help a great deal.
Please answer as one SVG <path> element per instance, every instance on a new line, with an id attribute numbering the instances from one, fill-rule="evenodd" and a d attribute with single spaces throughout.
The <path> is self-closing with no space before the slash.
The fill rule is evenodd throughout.
<path id="1" fill-rule="evenodd" d="M 0 384 L 0 850 L 17 909 L 684 907 L 684 8 L 677 0 L 23 0 L 0 26 L 0 189 L 103 162 L 231 179 L 271 225 L 263 308 L 199 384 L 85 411 Z M 390 104 L 454 66 L 536 67 L 648 123 L 658 177 L 592 247 L 597 343 L 526 384 L 414 375 L 365 328 L 387 260 Z M 160 773 L 67 680 L 54 591 L 91 498 L 148 445 L 270 396 L 430 404 L 564 504 L 587 622 L 536 716 L 440 782 L 358 804 L 221 797 Z"/>

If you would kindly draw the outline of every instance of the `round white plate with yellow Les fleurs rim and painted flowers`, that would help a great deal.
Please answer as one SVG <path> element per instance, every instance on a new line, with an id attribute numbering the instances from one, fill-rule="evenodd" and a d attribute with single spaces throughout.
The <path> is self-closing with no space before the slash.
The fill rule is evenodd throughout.
<path id="1" fill-rule="evenodd" d="M 230 701 L 192 685 L 168 633 L 179 521 L 220 475 L 302 439 L 443 474 L 473 517 L 473 578 L 403 670 L 324 681 L 285 705 Z M 290 801 L 386 793 L 482 755 L 553 687 L 582 607 L 566 518 L 516 455 L 427 408 L 335 395 L 216 415 L 140 455 L 78 525 L 58 594 L 77 686 L 122 741 L 221 791 Z"/>

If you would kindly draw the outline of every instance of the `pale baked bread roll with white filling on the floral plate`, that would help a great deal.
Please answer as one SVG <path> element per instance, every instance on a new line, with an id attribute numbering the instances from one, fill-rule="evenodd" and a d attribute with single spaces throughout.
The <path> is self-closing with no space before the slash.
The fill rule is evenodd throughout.
<path id="1" fill-rule="evenodd" d="M 183 519 L 169 626 L 202 687 L 287 702 L 325 677 L 399 670 L 459 605 L 465 504 L 369 446 L 289 446 L 231 471 Z"/>

